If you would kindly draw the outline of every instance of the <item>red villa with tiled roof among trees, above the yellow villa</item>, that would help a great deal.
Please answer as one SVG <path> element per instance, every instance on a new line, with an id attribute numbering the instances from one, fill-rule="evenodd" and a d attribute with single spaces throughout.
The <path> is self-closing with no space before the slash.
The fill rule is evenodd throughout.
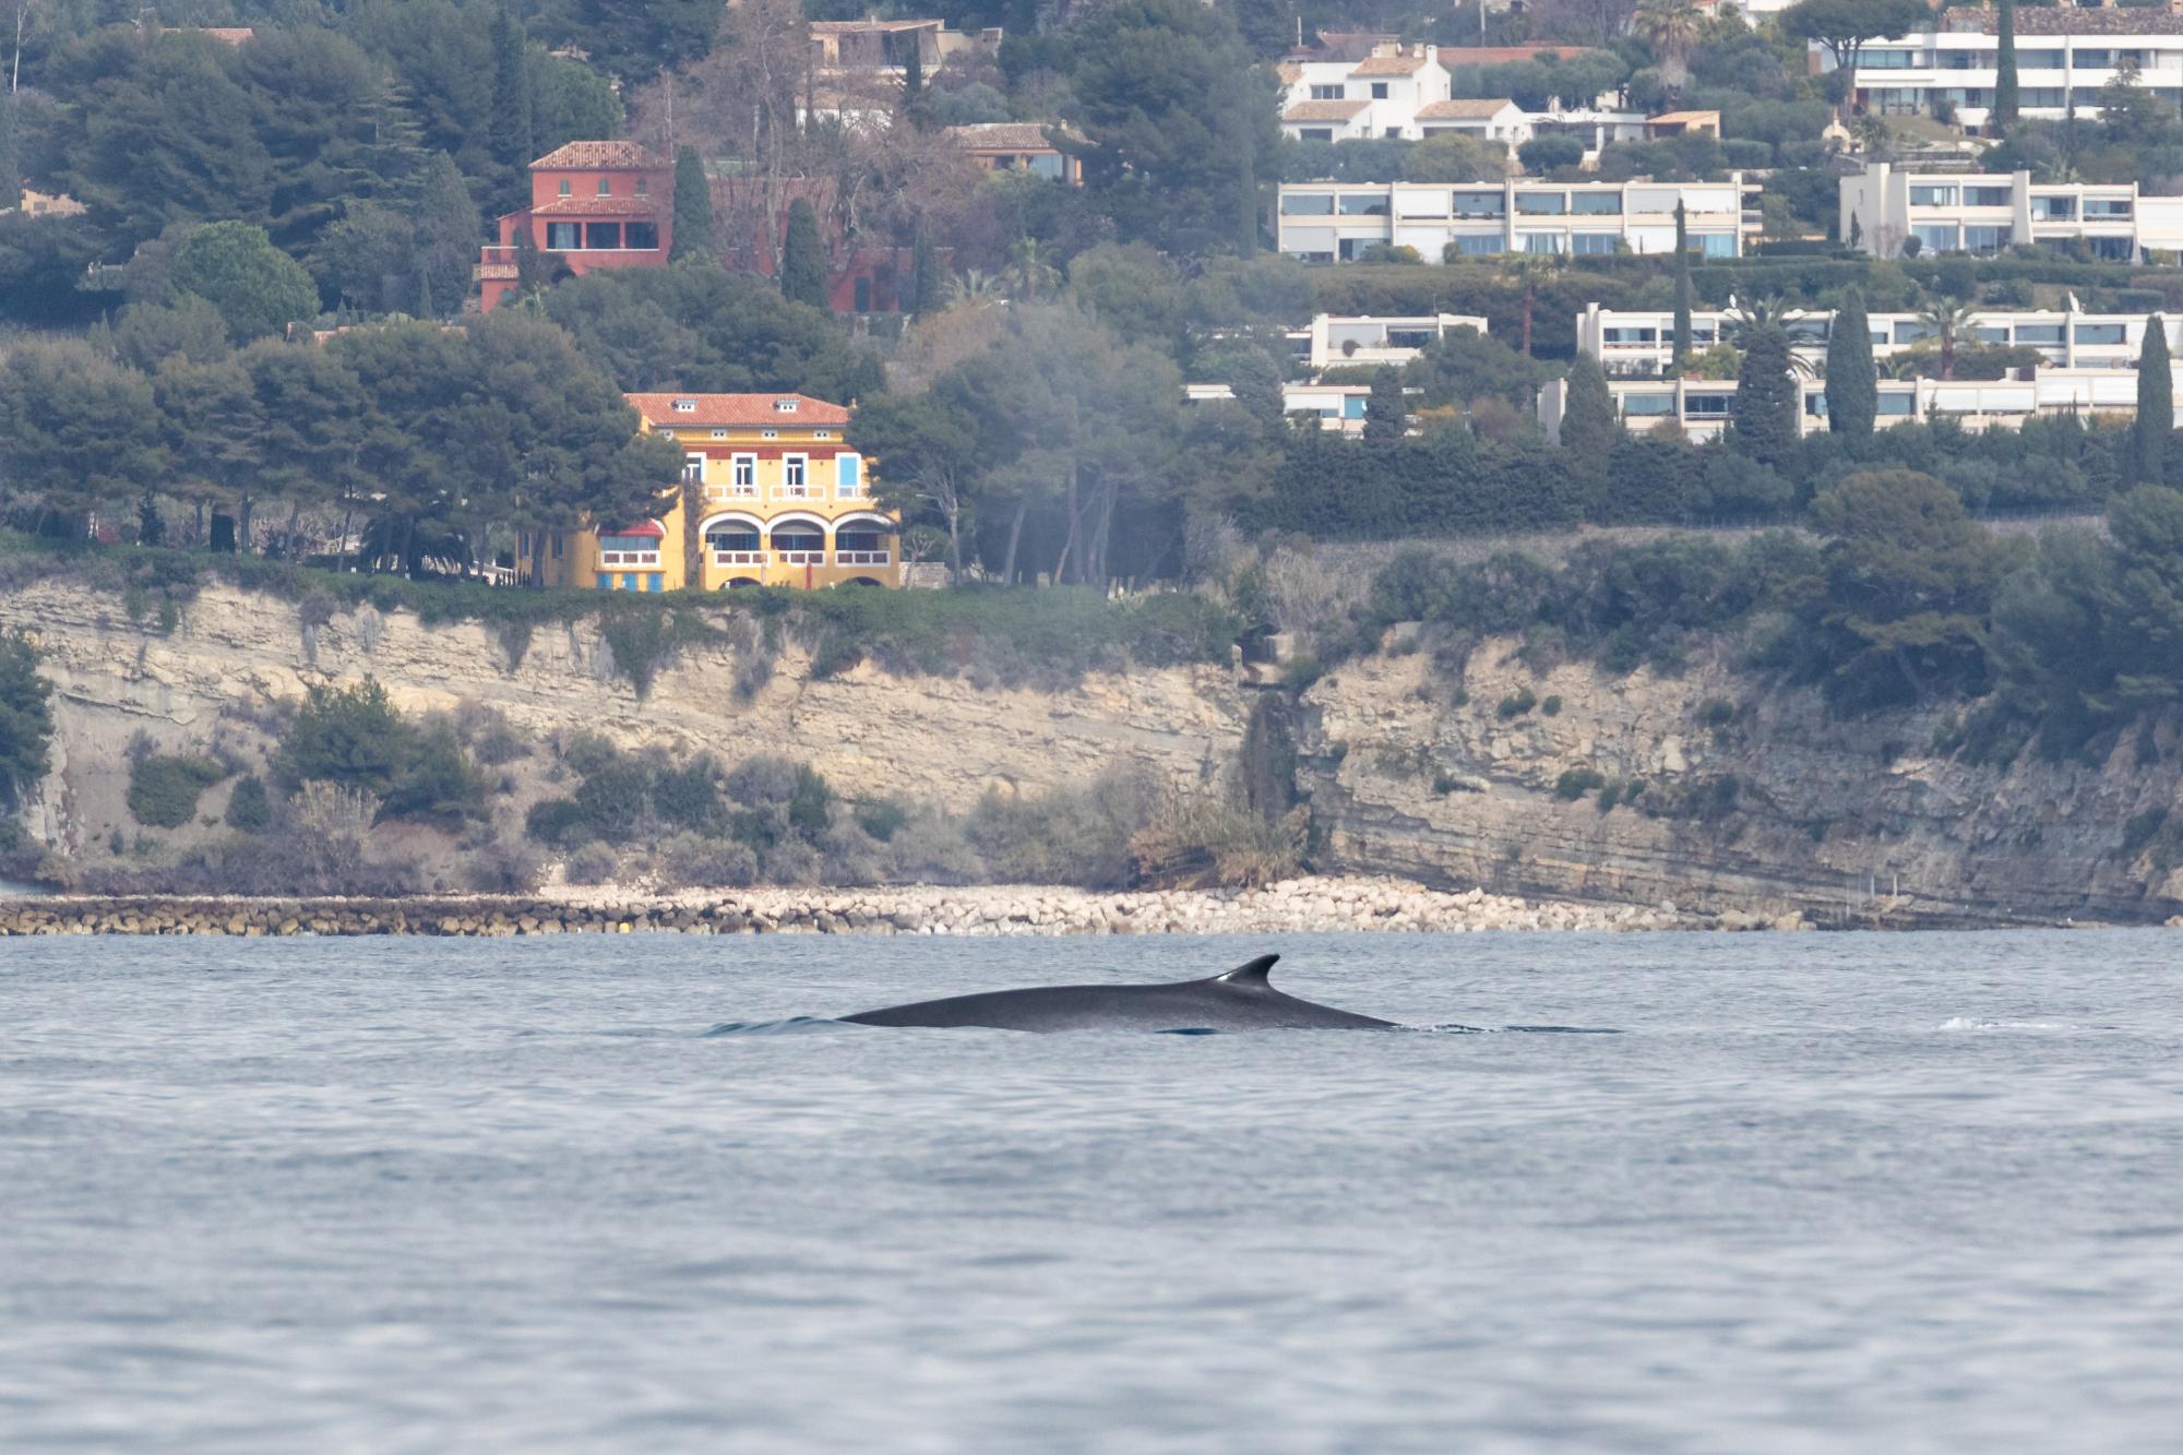
<path id="1" fill-rule="evenodd" d="M 664 269 L 675 242 L 675 164 L 635 142 L 570 142 L 530 164 L 530 205 L 478 251 L 478 306 L 515 291 L 522 232 L 572 273 Z"/>

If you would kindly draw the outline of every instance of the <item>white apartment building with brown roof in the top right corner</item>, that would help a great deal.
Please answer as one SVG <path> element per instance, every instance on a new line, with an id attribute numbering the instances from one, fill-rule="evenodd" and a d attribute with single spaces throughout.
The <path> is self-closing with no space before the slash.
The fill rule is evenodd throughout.
<path id="1" fill-rule="evenodd" d="M 1818 70 L 1834 57 L 1812 44 Z M 1858 52 L 1849 103 L 1873 116 L 1930 116 L 1956 107 L 1965 131 L 1987 127 L 2000 79 L 2000 11 L 1949 7 L 1932 26 L 1869 42 Z M 2100 87 L 2137 68 L 2137 85 L 2183 103 L 2183 15 L 2166 9 L 2017 7 L 2017 111 L 2061 120 L 2100 114 Z"/>

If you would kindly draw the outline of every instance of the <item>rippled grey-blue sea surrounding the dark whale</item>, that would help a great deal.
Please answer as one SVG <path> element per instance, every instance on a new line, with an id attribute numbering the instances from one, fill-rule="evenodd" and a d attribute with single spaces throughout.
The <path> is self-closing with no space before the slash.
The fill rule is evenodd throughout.
<path id="1" fill-rule="evenodd" d="M 2179 950 L 15 939 L 0 1446 L 2166 1455 Z"/>

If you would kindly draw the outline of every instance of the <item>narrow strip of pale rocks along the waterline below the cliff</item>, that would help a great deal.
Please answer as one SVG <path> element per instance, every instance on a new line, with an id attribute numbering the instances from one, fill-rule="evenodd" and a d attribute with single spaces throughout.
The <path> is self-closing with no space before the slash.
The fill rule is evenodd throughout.
<path id="1" fill-rule="evenodd" d="M 1092 894 L 1054 887 L 736 889 L 528 896 L 0 900 L 0 935 L 1236 935 L 1301 931 L 1810 928 L 1801 915 L 1692 913 L 1674 904 L 1526 902 L 1391 878 L 1295 878 L 1264 889 Z"/>

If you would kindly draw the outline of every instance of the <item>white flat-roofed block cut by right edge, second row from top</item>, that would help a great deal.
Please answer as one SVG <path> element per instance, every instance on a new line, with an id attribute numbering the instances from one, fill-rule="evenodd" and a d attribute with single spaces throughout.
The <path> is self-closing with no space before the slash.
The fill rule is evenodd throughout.
<path id="1" fill-rule="evenodd" d="M 1912 238 L 1919 253 L 2080 240 L 2096 258 L 2146 262 L 2183 251 L 2183 197 L 2142 197 L 2135 181 L 1904 173 L 1869 162 L 1862 175 L 1842 177 L 1840 227 L 1875 258 L 1901 256 Z"/>

